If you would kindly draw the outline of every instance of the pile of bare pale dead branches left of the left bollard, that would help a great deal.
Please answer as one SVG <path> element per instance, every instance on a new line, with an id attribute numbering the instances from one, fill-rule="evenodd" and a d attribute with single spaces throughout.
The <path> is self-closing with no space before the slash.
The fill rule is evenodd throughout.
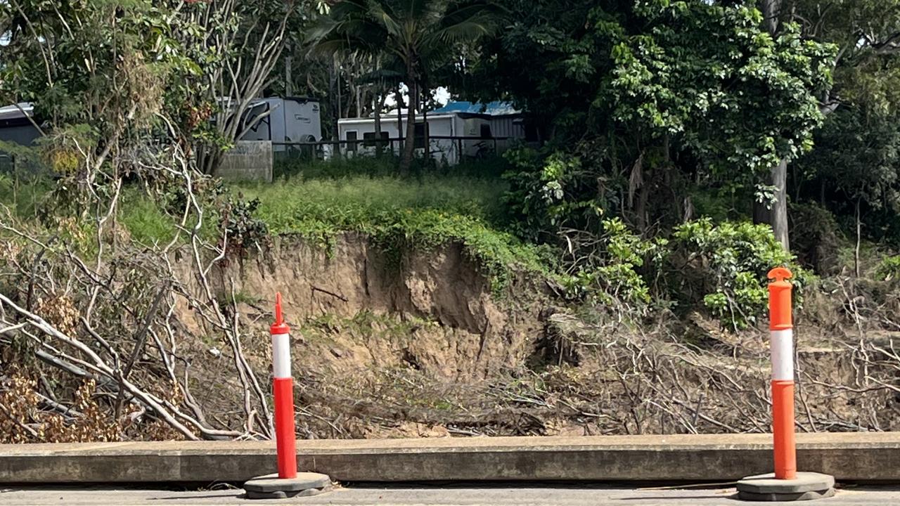
<path id="1" fill-rule="evenodd" d="M 184 189 L 181 221 L 167 243 L 139 246 L 116 224 L 121 179 L 78 221 L 75 230 L 89 234 L 67 230 L 66 221 L 56 234 L 35 231 L 4 210 L 0 438 L 270 436 L 265 376 L 245 356 L 236 308 L 217 296 L 223 287 L 212 287 L 227 230 L 217 243 L 201 239 L 211 219 L 193 191 L 202 178 L 184 153 L 174 154 L 180 167 L 153 167 Z M 185 314 L 191 329 L 179 320 Z M 198 348 L 204 340 L 210 346 Z M 210 350 L 229 360 L 206 363 Z"/>

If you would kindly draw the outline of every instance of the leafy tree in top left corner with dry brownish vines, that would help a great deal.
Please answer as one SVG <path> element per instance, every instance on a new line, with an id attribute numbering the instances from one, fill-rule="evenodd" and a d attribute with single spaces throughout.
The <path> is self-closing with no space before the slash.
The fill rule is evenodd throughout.
<path id="1" fill-rule="evenodd" d="M 115 179 L 130 147 L 147 140 L 177 83 L 197 70 L 175 39 L 176 16 L 145 0 L 0 4 L 0 100 L 35 105 L 59 173 L 87 185 Z"/>

